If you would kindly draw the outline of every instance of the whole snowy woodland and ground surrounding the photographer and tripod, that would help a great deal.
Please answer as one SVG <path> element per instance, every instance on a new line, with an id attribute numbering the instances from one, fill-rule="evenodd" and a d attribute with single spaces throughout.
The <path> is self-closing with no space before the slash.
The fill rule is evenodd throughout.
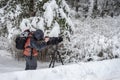
<path id="1" fill-rule="evenodd" d="M 15 39 L 27 29 L 41 29 L 44 36 L 62 36 L 57 50 L 66 66 L 58 60 L 60 66 L 55 70 L 7 73 L 24 70 L 23 50 L 16 49 Z M 120 0 L 0 0 L 0 43 L 0 74 L 11 75 L 0 76 L 2 80 L 120 80 Z M 38 66 L 46 68 L 55 47 L 39 51 Z M 6 69 L 2 69 L 4 62 Z M 10 70 L 9 64 L 18 67 Z M 38 77 L 40 72 L 43 75 Z M 47 72 L 52 74 L 45 78 Z M 30 77 L 33 73 L 36 76 Z M 110 77 L 112 74 L 116 76 Z"/>

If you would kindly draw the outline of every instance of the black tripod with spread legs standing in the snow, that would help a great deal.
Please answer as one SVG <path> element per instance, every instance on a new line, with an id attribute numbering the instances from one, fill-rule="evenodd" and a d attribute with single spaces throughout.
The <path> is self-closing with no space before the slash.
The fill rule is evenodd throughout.
<path id="1" fill-rule="evenodd" d="M 60 53 L 58 51 L 58 46 L 56 45 L 56 49 L 55 49 L 55 51 L 54 51 L 54 53 L 52 54 L 52 57 L 51 57 L 49 68 L 51 67 L 51 65 L 52 65 L 52 68 L 54 68 L 55 61 L 57 61 L 57 55 L 59 56 L 59 59 L 60 59 L 62 65 L 64 65 L 63 61 L 62 61 L 62 58 L 61 58 L 61 55 L 60 55 Z"/>

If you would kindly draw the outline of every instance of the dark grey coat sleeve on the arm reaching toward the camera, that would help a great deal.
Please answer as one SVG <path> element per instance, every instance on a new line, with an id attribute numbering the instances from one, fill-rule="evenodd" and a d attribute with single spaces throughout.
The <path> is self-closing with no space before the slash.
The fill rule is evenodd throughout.
<path id="1" fill-rule="evenodd" d="M 35 39 L 31 38 L 30 45 L 32 48 L 35 48 L 36 50 L 40 51 L 47 46 L 47 43 L 46 42 L 38 43 Z"/>

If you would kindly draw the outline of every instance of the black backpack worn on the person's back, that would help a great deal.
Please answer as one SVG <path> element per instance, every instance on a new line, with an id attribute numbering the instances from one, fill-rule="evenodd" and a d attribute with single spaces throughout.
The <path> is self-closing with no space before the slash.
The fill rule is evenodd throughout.
<path id="1" fill-rule="evenodd" d="M 24 32 L 22 32 L 20 35 L 18 35 L 15 39 L 15 47 L 17 49 L 20 50 L 24 50 L 24 45 L 26 43 L 26 40 L 28 38 L 30 31 L 29 30 L 25 30 Z"/>

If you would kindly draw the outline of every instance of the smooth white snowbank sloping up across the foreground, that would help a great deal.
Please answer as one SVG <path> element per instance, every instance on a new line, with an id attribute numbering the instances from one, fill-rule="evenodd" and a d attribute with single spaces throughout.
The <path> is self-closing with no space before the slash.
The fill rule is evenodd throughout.
<path id="1" fill-rule="evenodd" d="M 0 74 L 1 80 L 120 80 L 120 59 Z"/>

